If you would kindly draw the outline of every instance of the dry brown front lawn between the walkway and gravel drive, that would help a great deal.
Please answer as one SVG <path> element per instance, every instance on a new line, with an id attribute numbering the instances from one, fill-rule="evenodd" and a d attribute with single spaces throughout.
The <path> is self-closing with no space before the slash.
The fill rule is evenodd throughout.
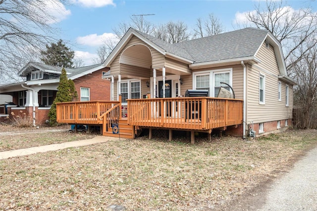
<path id="1" fill-rule="evenodd" d="M 222 210 L 316 143 L 317 130 L 195 145 L 143 137 L 0 160 L 0 210 Z"/>

